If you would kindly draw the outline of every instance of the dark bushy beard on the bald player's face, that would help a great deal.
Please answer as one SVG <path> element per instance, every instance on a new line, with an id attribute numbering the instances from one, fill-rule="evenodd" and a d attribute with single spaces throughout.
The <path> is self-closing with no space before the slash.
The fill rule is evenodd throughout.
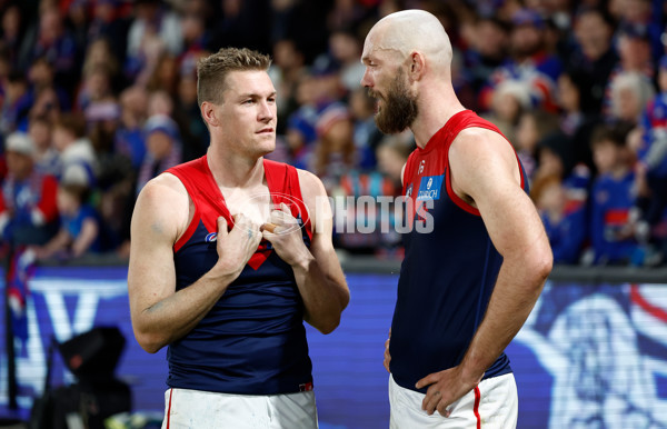
<path id="1" fill-rule="evenodd" d="M 371 97 L 378 98 L 379 94 L 369 89 Z M 410 96 L 406 86 L 404 73 L 399 71 L 389 89 L 387 97 L 384 98 L 382 108 L 375 116 L 376 126 L 385 134 L 394 134 L 404 131 L 417 118 L 417 100 Z"/>

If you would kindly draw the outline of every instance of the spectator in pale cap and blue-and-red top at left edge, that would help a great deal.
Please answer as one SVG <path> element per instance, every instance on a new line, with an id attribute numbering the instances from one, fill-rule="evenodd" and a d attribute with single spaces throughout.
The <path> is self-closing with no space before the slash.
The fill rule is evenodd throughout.
<path id="1" fill-rule="evenodd" d="M 34 169 L 34 142 L 24 133 L 12 133 L 6 142 L 7 177 L 0 189 L 0 237 L 6 243 L 43 245 L 58 228 L 52 176 Z"/>

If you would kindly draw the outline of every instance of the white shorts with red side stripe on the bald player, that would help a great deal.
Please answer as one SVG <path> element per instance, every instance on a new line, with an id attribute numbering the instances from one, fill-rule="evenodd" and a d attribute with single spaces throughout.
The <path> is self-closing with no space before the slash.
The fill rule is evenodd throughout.
<path id="1" fill-rule="evenodd" d="M 516 428 L 518 415 L 517 385 L 514 375 L 488 378 L 449 406 L 451 413 L 431 416 L 421 409 L 425 395 L 402 388 L 389 377 L 391 429 L 438 428 Z"/>

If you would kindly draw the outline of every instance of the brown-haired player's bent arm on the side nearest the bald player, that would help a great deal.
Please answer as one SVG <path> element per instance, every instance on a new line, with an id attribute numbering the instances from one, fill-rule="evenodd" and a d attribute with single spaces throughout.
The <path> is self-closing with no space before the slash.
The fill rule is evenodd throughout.
<path id="1" fill-rule="evenodd" d="M 329 333 L 338 327 L 350 292 L 331 242 L 332 217 L 325 187 L 316 176 L 302 170 L 299 182 L 313 228 L 310 249 L 299 230 L 288 235 L 279 233 L 279 229 L 275 233 L 265 230 L 263 235 L 278 256 L 292 267 L 306 307 L 305 320 L 320 332 Z M 318 204 L 318 198 L 325 203 Z"/>

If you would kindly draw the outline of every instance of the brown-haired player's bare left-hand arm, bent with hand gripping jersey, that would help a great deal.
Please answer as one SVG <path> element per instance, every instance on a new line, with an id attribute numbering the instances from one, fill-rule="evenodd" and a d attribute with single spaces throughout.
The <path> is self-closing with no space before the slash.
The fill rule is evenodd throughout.
<path id="1" fill-rule="evenodd" d="M 171 174 L 151 180 L 137 199 L 128 288 L 135 336 L 148 352 L 187 335 L 240 275 L 261 239 L 259 226 L 242 216 L 236 218 L 230 232 L 219 218 L 218 262 L 193 285 L 176 292 L 173 245 L 191 216 L 188 193 Z"/>

